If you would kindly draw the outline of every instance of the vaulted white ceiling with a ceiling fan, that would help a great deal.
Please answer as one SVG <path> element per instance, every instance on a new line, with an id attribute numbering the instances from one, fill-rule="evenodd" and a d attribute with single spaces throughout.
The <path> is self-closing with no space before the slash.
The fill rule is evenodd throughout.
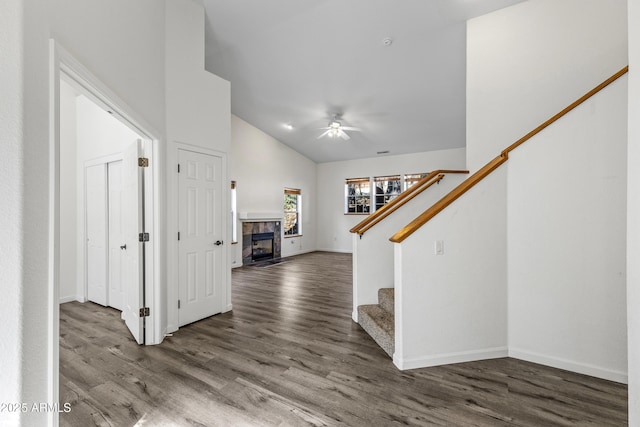
<path id="1" fill-rule="evenodd" d="M 203 0 L 206 68 L 318 163 L 464 147 L 466 20 L 521 1 Z M 361 131 L 317 139 L 334 114 Z"/>

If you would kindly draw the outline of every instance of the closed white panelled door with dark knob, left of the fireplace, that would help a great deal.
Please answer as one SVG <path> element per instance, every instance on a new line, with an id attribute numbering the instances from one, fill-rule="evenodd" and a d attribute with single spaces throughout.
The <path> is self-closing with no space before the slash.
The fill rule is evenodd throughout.
<path id="1" fill-rule="evenodd" d="M 179 326 L 222 312 L 222 159 L 179 150 Z"/>

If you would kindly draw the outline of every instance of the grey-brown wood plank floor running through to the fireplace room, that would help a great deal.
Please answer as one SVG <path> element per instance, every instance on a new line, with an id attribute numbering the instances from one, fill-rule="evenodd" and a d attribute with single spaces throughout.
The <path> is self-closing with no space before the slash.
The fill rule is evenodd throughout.
<path id="1" fill-rule="evenodd" d="M 233 312 L 138 346 L 60 308 L 62 426 L 623 426 L 627 388 L 515 359 L 399 371 L 351 320 L 351 256 L 233 271 Z"/>

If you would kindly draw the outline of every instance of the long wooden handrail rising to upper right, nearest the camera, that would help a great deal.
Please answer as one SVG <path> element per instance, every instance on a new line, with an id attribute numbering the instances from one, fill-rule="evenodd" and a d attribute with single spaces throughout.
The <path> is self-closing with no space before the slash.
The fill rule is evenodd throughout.
<path id="1" fill-rule="evenodd" d="M 518 148 L 524 142 L 528 141 L 533 136 L 540 133 L 543 129 L 545 129 L 552 123 L 558 121 L 561 117 L 565 116 L 567 113 L 575 109 L 577 106 L 585 102 L 587 99 L 591 98 L 593 95 L 600 92 L 602 89 L 604 89 L 605 87 L 607 87 L 608 85 L 610 85 L 611 83 L 613 83 L 614 81 L 622 77 L 628 71 L 629 71 L 629 66 L 627 65 L 617 73 L 613 74 L 607 80 L 600 83 L 598 86 L 591 89 L 589 92 L 587 92 L 586 94 L 584 94 L 583 96 L 575 100 L 564 110 L 560 111 L 558 114 L 556 114 L 555 116 L 551 117 L 550 119 L 542 123 L 540 126 L 538 126 L 534 130 L 532 130 L 531 132 L 529 132 L 528 134 L 526 134 L 525 136 L 523 136 L 522 138 L 520 138 L 519 140 L 511 144 L 506 149 L 502 150 L 502 152 L 498 157 L 491 160 L 489 163 L 487 163 L 482 168 L 480 168 L 476 173 L 474 173 L 469 178 L 464 180 L 460 185 L 458 185 L 456 188 L 451 190 L 449 194 L 445 195 L 442 199 L 437 201 L 433 206 L 431 206 L 429 209 L 427 209 L 422 214 L 420 214 L 416 219 L 411 221 L 409 224 L 403 227 L 396 234 L 391 236 L 389 240 L 392 241 L 393 243 L 401 243 L 404 239 L 406 239 L 411 234 L 413 234 L 418 228 L 422 227 L 427 221 L 429 221 L 431 218 L 433 218 L 434 216 L 442 212 L 447 206 L 449 206 L 451 203 L 457 200 L 460 196 L 462 196 L 464 193 L 469 191 L 473 186 L 475 186 L 477 183 L 482 181 L 487 175 L 489 175 L 491 172 L 493 172 L 498 167 L 500 167 L 503 163 L 509 160 L 509 153 L 511 151 Z"/>

